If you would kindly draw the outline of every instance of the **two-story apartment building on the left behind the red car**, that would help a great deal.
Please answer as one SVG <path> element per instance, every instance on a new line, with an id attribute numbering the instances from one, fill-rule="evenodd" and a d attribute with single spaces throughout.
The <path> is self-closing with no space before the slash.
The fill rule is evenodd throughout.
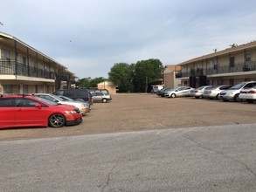
<path id="1" fill-rule="evenodd" d="M 0 32 L 0 93 L 53 93 L 75 78 L 66 66 Z"/>

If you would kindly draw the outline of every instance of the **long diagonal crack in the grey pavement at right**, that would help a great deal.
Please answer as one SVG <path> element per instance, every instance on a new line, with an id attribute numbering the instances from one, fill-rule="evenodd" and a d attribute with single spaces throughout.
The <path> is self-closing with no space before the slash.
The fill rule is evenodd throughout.
<path id="1" fill-rule="evenodd" d="M 199 142 L 197 142 L 197 141 L 191 139 L 190 136 L 189 136 L 189 134 L 185 134 L 185 133 L 183 133 L 182 131 L 177 131 L 177 132 L 183 134 L 183 137 L 185 137 L 186 139 L 188 139 L 188 140 L 190 140 L 190 141 L 196 143 L 198 147 L 202 147 L 202 148 L 204 148 L 204 149 L 206 149 L 206 150 L 209 150 L 209 151 L 211 151 L 211 152 L 214 152 L 214 153 L 216 153 L 216 154 L 223 155 L 223 156 L 225 156 L 225 157 L 228 158 L 228 159 L 231 159 L 231 160 L 233 160 L 233 161 L 237 161 L 239 164 L 241 164 L 242 166 L 244 166 L 244 167 L 247 169 L 247 171 L 249 171 L 251 174 L 253 174 L 254 177 L 256 177 L 256 173 L 254 173 L 253 170 L 252 170 L 251 168 L 249 168 L 249 167 L 246 165 L 246 163 L 244 163 L 244 162 L 242 162 L 242 161 L 239 161 L 239 160 L 237 160 L 237 159 L 235 159 L 235 158 L 233 158 L 233 157 L 231 157 L 231 156 L 228 156 L 227 154 L 224 154 L 224 153 L 221 153 L 221 152 L 219 152 L 219 151 L 217 151 L 217 150 L 214 150 L 214 149 L 212 149 L 212 148 L 210 148 L 210 147 L 204 147 L 201 143 L 199 143 Z"/>

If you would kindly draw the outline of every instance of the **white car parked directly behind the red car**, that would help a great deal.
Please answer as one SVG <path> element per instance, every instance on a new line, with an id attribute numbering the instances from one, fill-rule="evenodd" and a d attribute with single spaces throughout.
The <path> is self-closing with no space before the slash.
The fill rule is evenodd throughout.
<path id="1" fill-rule="evenodd" d="M 90 110 L 90 107 L 88 106 L 88 104 L 83 102 L 83 101 L 80 101 L 80 100 L 62 99 L 59 96 L 54 95 L 54 94 L 50 94 L 50 93 L 34 93 L 33 95 L 36 95 L 40 98 L 51 100 L 51 101 L 59 103 L 59 104 L 66 104 L 66 105 L 76 106 L 80 109 L 80 113 L 82 115 L 85 115 Z"/>

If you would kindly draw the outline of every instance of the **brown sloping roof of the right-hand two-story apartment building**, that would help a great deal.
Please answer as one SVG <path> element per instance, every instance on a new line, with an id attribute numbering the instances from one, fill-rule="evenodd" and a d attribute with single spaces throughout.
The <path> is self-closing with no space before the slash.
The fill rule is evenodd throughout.
<path id="1" fill-rule="evenodd" d="M 203 55 L 203 56 L 198 57 L 198 58 L 192 58 L 192 59 L 184 61 L 183 63 L 178 64 L 178 65 L 185 65 L 185 64 L 188 64 L 188 63 L 201 61 L 201 60 L 204 60 L 204 59 L 207 59 L 207 58 L 214 58 L 214 57 L 222 56 L 222 55 L 225 55 L 225 54 L 228 54 L 228 53 L 231 53 L 231 52 L 242 51 L 242 50 L 253 48 L 253 47 L 256 47 L 256 41 L 252 41 L 248 44 L 243 44 L 243 45 L 238 45 L 238 46 L 234 46 L 234 47 L 231 47 L 231 48 L 227 48 L 227 49 L 222 50 L 222 51 L 216 51 L 216 52 L 213 52 L 213 53 L 210 53 L 210 54 L 207 54 L 207 55 Z"/>

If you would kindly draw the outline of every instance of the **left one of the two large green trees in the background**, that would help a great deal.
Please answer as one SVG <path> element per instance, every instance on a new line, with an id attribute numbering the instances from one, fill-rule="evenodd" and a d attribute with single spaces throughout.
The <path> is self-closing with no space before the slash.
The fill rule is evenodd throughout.
<path id="1" fill-rule="evenodd" d="M 118 86 L 119 92 L 131 92 L 133 90 L 132 73 L 133 65 L 117 63 L 108 72 L 108 79 Z"/>

